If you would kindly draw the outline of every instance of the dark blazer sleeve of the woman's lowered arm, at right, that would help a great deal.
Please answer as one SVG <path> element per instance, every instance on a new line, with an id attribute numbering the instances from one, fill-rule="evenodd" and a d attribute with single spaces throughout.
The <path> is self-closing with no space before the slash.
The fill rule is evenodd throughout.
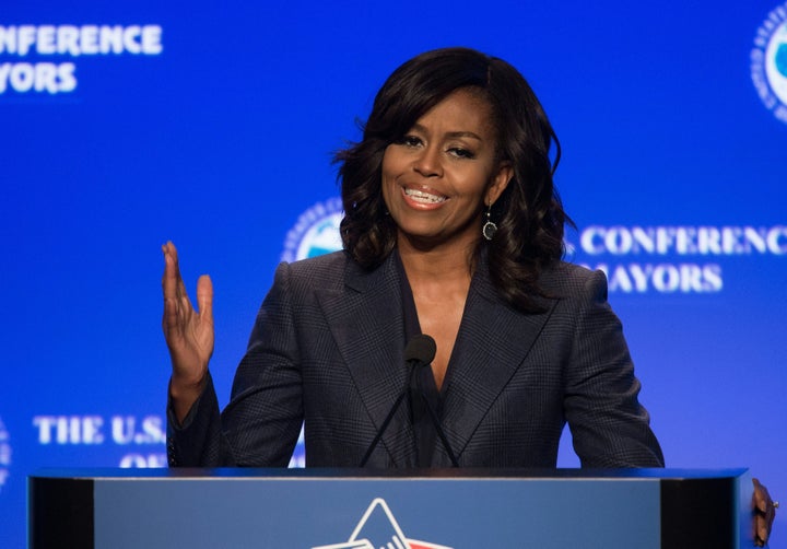
<path id="1" fill-rule="evenodd" d="M 574 449 L 583 467 L 663 467 L 607 279 L 596 271 L 583 287 L 564 398 Z"/>

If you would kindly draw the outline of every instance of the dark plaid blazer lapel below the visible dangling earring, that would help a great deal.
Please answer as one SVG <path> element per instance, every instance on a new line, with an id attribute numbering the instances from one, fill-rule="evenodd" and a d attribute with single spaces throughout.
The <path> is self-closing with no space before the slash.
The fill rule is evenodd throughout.
<path id="1" fill-rule="evenodd" d="M 514 373 L 527 367 L 528 352 L 555 303 L 544 301 L 549 308 L 543 314 L 516 312 L 501 300 L 481 262 L 454 349 L 461 360 L 451 360 L 444 387 L 443 424 L 458 459 Z M 444 462 L 439 443 L 435 449 L 433 463 Z"/>

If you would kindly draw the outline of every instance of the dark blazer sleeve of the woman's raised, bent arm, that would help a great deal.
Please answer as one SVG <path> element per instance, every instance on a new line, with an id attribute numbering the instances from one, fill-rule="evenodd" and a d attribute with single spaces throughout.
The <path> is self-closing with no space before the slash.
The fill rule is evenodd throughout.
<path id="1" fill-rule="evenodd" d="M 167 454 L 179 467 L 286 467 L 303 423 L 290 266 L 281 264 L 257 315 L 221 414 L 208 385 L 178 425 L 167 406 Z"/>

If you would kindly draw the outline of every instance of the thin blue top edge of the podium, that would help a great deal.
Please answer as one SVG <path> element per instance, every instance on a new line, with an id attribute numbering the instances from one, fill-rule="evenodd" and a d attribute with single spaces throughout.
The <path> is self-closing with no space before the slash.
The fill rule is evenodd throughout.
<path id="1" fill-rule="evenodd" d="M 477 479 L 586 479 L 586 480 L 665 480 L 737 478 L 747 468 L 728 469 L 351 469 L 351 468 L 47 468 L 28 475 L 30 479 L 268 479 L 268 480 L 477 480 Z"/>

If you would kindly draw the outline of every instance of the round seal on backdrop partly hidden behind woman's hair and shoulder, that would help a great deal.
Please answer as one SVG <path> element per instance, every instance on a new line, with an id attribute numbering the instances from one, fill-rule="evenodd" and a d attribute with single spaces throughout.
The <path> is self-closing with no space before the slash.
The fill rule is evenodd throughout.
<path id="1" fill-rule="evenodd" d="M 287 232 L 281 260 L 292 262 L 341 249 L 339 223 L 342 215 L 338 197 L 312 206 Z"/>

